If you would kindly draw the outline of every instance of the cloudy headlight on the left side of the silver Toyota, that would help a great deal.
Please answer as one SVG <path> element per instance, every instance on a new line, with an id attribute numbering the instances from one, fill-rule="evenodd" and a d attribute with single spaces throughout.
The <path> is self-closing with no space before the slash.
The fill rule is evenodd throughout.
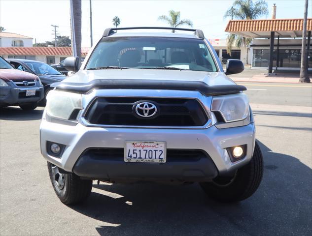
<path id="1" fill-rule="evenodd" d="M 51 90 L 47 95 L 46 113 L 53 118 L 69 120 L 75 110 L 82 109 L 81 94 Z"/>

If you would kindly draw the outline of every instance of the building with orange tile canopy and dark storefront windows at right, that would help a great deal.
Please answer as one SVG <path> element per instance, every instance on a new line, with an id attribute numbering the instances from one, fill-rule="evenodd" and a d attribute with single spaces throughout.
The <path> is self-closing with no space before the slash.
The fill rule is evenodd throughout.
<path id="1" fill-rule="evenodd" d="M 253 38 L 252 68 L 300 70 L 303 19 L 230 20 L 228 33 Z M 312 70 L 312 18 L 307 21 L 308 67 Z"/>

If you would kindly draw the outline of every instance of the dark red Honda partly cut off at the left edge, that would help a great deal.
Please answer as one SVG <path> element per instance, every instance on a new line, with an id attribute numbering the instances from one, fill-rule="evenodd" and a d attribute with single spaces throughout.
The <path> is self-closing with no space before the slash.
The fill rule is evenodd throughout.
<path id="1" fill-rule="evenodd" d="M 38 76 L 16 70 L 0 57 L 0 107 L 20 106 L 23 110 L 33 110 L 43 96 Z"/>

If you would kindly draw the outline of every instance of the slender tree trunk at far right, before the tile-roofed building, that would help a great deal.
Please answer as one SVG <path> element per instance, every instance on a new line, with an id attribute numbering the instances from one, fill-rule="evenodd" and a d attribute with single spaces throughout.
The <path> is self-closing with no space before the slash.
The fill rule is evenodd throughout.
<path id="1" fill-rule="evenodd" d="M 305 13 L 303 18 L 303 30 L 302 30 L 302 47 L 301 47 L 301 66 L 300 66 L 300 79 L 301 83 L 310 83 L 307 67 L 307 50 L 306 50 L 306 38 L 307 38 L 307 18 L 308 18 L 308 0 L 305 0 Z"/>

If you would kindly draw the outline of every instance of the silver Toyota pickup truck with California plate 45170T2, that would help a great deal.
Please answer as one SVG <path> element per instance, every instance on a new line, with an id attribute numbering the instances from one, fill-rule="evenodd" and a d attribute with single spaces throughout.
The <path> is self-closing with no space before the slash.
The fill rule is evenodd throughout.
<path id="1" fill-rule="evenodd" d="M 204 33 L 105 29 L 80 69 L 52 84 L 40 125 L 41 153 L 65 204 L 85 200 L 92 180 L 199 182 L 208 196 L 242 201 L 258 188 L 263 160 L 245 87 Z M 127 32 L 128 31 L 128 32 Z"/>

